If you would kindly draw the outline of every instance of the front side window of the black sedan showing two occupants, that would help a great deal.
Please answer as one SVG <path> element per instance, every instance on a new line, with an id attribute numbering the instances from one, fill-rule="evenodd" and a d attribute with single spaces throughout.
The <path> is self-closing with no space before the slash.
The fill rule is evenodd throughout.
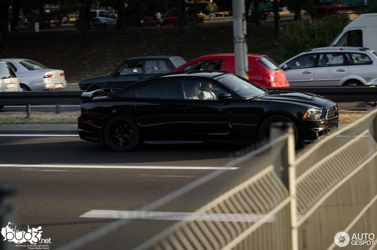
<path id="1" fill-rule="evenodd" d="M 201 80 L 182 80 L 184 99 L 218 100 L 219 94 L 226 93 L 212 82 Z"/>

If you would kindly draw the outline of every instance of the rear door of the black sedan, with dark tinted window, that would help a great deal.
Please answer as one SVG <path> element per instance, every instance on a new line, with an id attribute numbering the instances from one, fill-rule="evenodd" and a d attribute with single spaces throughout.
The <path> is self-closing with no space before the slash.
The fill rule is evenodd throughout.
<path id="1" fill-rule="evenodd" d="M 182 133 L 181 105 L 176 80 L 159 81 L 133 90 L 130 113 L 143 140 L 177 140 Z"/>

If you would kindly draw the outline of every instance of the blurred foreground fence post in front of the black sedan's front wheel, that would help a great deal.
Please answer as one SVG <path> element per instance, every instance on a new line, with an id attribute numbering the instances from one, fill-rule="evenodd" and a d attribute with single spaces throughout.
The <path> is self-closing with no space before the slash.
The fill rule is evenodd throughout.
<path id="1" fill-rule="evenodd" d="M 277 176 L 287 187 L 292 198 L 289 207 L 285 207 L 276 214 L 276 247 L 277 249 L 298 250 L 298 228 L 297 228 L 297 205 L 296 205 L 296 166 L 295 141 L 292 124 L 287 122 L 276 122 L 271 124 L 271 139 L 288 133 L 284 144 L 276 145 L 277 153 L 274 159 L 274 170 Z M 274 150 L 274 149 L 273 149 Z"/>

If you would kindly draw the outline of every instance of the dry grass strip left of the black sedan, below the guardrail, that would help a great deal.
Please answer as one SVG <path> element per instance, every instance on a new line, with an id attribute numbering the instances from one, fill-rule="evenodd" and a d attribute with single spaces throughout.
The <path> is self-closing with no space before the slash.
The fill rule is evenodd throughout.
<path id="1" fill-rule="evenodd" d="M 80 111 L 62 112 L 31 112 L 31 116 L 26 118 L 26 112 L 3 112 L 0 113 L 0 124 L 73 124 L 77 123 Z"/>

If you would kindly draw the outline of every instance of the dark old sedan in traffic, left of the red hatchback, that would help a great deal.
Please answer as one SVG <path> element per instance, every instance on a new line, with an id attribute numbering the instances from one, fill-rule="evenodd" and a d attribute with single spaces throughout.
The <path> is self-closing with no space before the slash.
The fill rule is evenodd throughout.
<path id="1" fill-rule="evenodd" d="M 113 72 L 78 83 L 81 90 L 123 88 L 131 83 L 167 73 L 186 63 L 180 56 L 144 56 L 124 60 Z"/>

